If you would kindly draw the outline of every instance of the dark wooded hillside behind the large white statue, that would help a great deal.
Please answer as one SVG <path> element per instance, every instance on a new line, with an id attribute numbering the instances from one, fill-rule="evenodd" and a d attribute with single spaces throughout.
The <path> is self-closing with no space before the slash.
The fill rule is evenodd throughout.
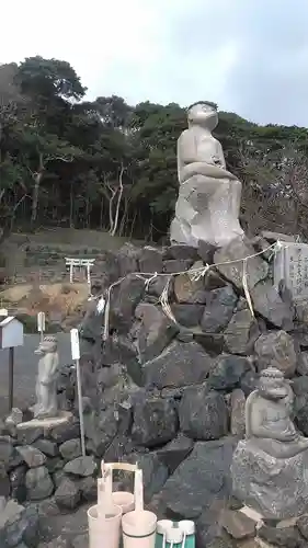
<path id="1" fill-rule="evenodd" d="M 168 235 L 185 109 L 132 106 L 116 95 L 89 102 L 85 92 L 66 61 L 37 56 L 0 67 L 2 238 L 42 227 L 148 241 Z M 243 228 L 308 238 L 307 129 L 220 112 L 216 136 L 243 183 Z"/>

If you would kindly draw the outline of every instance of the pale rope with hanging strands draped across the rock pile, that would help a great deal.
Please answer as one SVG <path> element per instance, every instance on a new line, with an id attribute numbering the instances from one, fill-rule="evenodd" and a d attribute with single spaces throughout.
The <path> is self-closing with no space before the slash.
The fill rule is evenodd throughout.
<path id="1" fill-rule="evenodd" d="M 242 270 L 242 286 L 243 286 L 243 292 L 244 296 L 250 309 L 250 312 L 252 317 L 254 317 L 254 311 L 253 311 L 253 306 L 252 306 L 252 300 L 250 297 L 249 293 L 249 287 L 248 287 L 248 261 L 250 259 L 254 259 L 255 256 L 262 255 L 263 253 L 266 253 L 266 251 L 272 250 L 273 254 L 276 254 L 277 251 L 280 251 L 284 246 L 281 241 L 277 241 L 275 243 L 272 243 L 267 248 L 263 249 L 262 251 L 258 251 L 256 253 L 253 253 L 248 256 L 243 256 L 241 259 L 233 259 L 231 261 L 225 261 L 220 263 L 213 263 L 213 264 L 206 264 L 205 266 L 198 266 L 195 269 L 190 269 L 189 271 L 178 271 L 178 272 L 155 272 L 155 273 L 149 273 L 149 272 L 130 272 L 126 274 L 126 276 L 121 277 L 116 282 L 110 285 L 107 289 L 107 295 L 106 295 L 106 304 L 105 304 L 105 311 L 104 311 L 104 330 L 103 330 L 103 340 L 106 341 L 109 339 L 109 324 L 110 324 L 110 306 L 111 306 L 111 292 L 114 287 L 119 285 L 127 276 L 136 276 L 145 282 L 145 288 L 148 290 L 150 283 L 156 279 L 157 277 L 163 277 L 167 276 L 167 284 L 160 295 L 159 301 L 161 304 L 162 310 L 168 316 L 174 323 L 176 323 L 176 320 L 172 313 L 171 307 L 169 305 L 169 299 L 168 299 L 168 294 L 169 294 L 169 287 L 170 287 L 170 282 L 173 276 L 180 276 L 182 274 L 186 274 L 190 276 L 190 278 L 193 282 L 197 282 L 202 277 L 207 274 L 207 272 L 210 269 L 217 269 L 217 266 L 225 266 L 227 264 L 237 264 L 237 263 L 243 263 L 243 270 Z"/>

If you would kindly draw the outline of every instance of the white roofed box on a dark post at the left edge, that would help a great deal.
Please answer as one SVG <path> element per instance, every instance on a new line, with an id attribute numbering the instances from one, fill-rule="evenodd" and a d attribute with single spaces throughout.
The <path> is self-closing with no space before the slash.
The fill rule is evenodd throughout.
<path id="1" fill-rule="evenodd" d="M 23 346 L 23 324 L 13 316 L 0 317 L 0 350 L 9 350 L 9 412 L 14 398 L 14 347 Z"/>

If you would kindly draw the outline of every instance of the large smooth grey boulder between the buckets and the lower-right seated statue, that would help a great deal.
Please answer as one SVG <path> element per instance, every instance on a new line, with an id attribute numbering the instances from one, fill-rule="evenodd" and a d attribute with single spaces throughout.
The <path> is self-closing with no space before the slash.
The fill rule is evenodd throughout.
<path id="1" fill-rule="evenodd" d="M 197 442 L 191 455 L 169 478 L 162 499 L 169 512 L 195 520 L 213 504 L 230 494 L 230 464 L 236 441 Z"/>

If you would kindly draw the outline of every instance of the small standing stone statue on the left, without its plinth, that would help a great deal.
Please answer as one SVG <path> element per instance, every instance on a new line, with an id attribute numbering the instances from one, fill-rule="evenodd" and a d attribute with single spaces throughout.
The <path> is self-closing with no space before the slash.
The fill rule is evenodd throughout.
<path id="1" fill-rule="evenodd" d="M 45 336 L 35 354 L 39 355 L 36 377 L 36 404 L 33 408 L 35 419 L 55 418 L 58 414 L 57 378 L 59 356 L 55 336 Z"/>

